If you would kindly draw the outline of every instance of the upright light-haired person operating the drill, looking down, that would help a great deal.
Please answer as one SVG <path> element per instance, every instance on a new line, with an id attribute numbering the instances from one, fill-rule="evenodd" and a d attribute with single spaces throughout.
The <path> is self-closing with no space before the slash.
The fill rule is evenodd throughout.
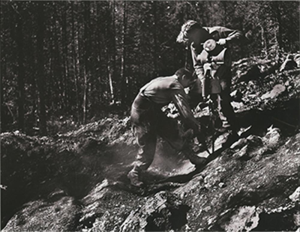
<path id="1" fill-rule="evenodd" d="M 202 98 L 202 86 L 205 80 L 204 64 L 203 59 L 203 44 L 205 41 L 213 39 L 217 44 L 227 47 L 229 43 L 234 43 L 244 39 L 244 35 L 241 31 L 231 30 L 225 27 L 202 27 L 199 23 L 194 20 L 188 20 L 182 25 L 181 31 L 177 37 L 177 42 L 184 43 L 187 48 L 190 47 L 193 67 L 198 77 L 197 83 L 194 88 L 190 91 L 189 95 L 192 99 L 199 103 L 203 101 Z M 238 122 L 236 120 L 235 113 L 230 103 L 230 86 L 231 86 L 231 62 L 220 65 L 217 69 L 216 75 L 220 79 L 220 111 L 226 117 L 230 127 L 230 135 L 226 141 L 226 144 L 235 141 L 238 138 L 237 131 L 239 129 Z M 216 99 L 212 99 L 216 100 Z"/>

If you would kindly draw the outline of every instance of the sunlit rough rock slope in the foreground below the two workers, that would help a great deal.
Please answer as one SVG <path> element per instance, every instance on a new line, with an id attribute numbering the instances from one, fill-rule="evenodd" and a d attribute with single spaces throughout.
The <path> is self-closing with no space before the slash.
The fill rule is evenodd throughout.
<path id="1" fill-rule="evenodd" d="M 177 185 L 140 191 L 104 179 L 77 199 L 56 187 L 45 200 L 25 204 L 4 231 L 296 230 L 300 134 L 274 147 L 270 133 L 279 131 L 237 141 L 201 172 L 174 179 Z M 235 156 L 245 146 L 248 158 Z M 269 147 L 273 153 L 265 152 Z"/>

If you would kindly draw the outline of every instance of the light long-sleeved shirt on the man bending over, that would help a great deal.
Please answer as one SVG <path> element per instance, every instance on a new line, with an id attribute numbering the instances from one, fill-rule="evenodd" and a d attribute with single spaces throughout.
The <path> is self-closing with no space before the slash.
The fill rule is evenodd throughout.
<path id="1" fill-rule="evenodd" d="M 173 101 L 184 123 L 192 128 L 194 133 L 198 133 L 199 124 L 190 110 L 187 98 L 184 87 L 180 84 L 176 75 L 158 77 L 140 89 L 133 107 L 143 110 L 147 106 L 155 105 L 157 108 L 161 108 Z"/>

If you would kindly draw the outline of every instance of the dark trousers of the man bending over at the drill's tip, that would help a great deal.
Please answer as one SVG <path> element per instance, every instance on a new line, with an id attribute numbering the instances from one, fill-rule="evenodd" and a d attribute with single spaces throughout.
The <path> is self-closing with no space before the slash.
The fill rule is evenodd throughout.
<path id="1" fill-rule="evenodd" d="M 139 151 L 134 170 L 146 170 L 151 165 L 156 149 L 157 136 L 165 139 L 175 150 L 182 150 L 185 141 L 179 132 L 177 120 L 168 118 L 160 108 L 139 110 L 131 107 L 131 124 Z"/>

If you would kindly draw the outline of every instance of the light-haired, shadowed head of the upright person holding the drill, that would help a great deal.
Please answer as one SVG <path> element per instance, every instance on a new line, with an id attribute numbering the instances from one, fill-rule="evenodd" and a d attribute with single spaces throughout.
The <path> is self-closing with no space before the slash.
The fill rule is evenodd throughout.
<path id="1" fill-rule="evenodd" d="M 191 43 L 204 43 L 209 37 L 209 33 L 199 23 L 194 20 L 188 20 L 182 25 L 176 41 L 189 46 Z"/>

